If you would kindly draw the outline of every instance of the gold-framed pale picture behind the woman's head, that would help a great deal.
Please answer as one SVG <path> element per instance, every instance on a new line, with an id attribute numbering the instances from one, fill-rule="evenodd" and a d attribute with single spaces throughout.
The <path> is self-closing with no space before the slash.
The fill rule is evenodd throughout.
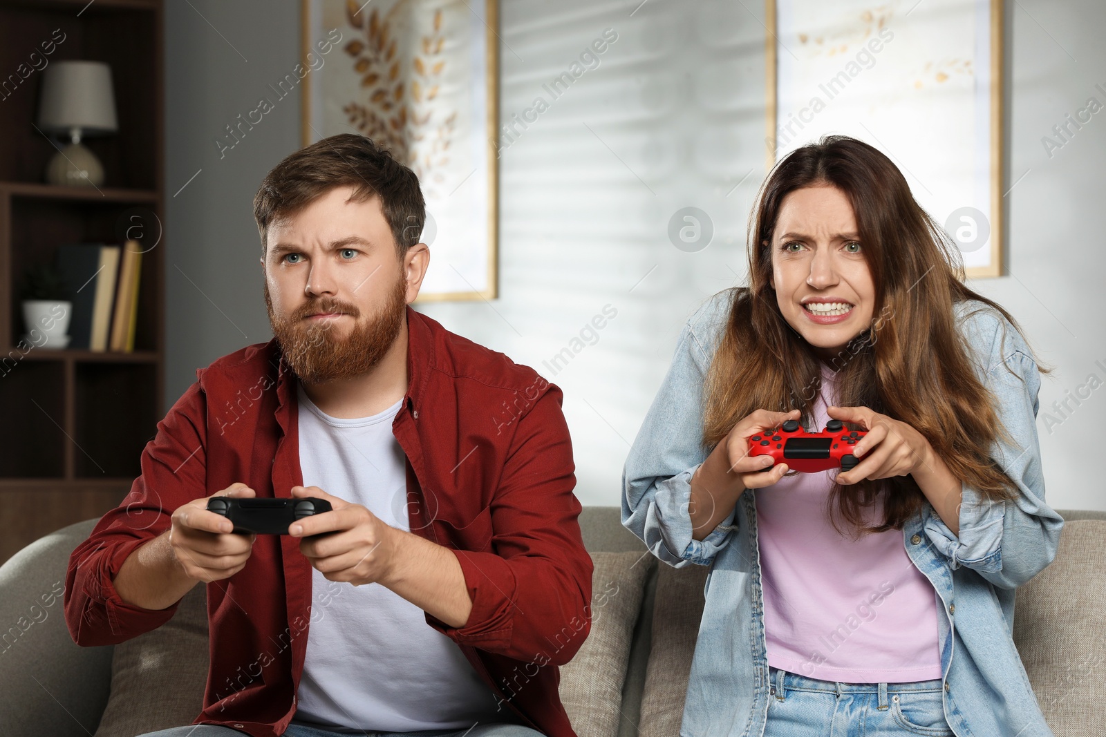
<path id="1" fill-rule="evenodd" d="M 968 276 L 1001 275 L 1002 1 L 766 0 L 765 27 L 769 168 L 826 134 L 872 144 Z"/>

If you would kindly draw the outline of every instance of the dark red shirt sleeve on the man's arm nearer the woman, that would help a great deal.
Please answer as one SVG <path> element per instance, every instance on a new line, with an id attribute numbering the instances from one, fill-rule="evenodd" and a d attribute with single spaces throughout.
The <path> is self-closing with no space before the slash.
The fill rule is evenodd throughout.
<path id="1" fill-rule="evenodd" d="M 587 636 L 592 599 L 561 397 L 550 385 L 519 419 L 492 503 L 473 523 L 490 527 L 492 551 L 451 549 L 472 600 L 468 621 L 452 628 L 427 614 L 458 644 L 555 665 Z"/>

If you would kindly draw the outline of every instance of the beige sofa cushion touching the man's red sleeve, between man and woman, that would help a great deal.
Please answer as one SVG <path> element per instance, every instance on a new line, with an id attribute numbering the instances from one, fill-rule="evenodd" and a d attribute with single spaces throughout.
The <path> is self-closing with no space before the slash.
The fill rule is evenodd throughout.
<path id="1" fill-rule="evenodd" d="M 561 668 L 561 702 L 578 737 L 615 737 L 634 625 L 656 562 L 645 550 L 593 552 L 592 560 L 592 630 Z"/>

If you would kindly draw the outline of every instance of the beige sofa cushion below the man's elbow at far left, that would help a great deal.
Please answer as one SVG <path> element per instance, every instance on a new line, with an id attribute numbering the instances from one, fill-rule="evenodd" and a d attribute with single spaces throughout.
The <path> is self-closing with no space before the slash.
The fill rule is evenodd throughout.
<path id="1" fill-rule="evenodd" d="M 204 708 L 207 672 L 207 594 L 197 586 L 168 622 L 115 645 L 112 695 L 95 737 L 191 724 Z"/>

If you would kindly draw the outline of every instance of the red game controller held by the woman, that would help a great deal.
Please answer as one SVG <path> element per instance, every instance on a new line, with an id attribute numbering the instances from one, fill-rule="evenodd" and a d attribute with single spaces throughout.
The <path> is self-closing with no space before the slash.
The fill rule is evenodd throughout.
<path id="1" fill-rule="evenodd" d="M 775 465 L 786 463 L 792 471 L 816 473 L 830 468 L 849 471 L 860 461 L 853 455 L 856 441 L 867 433 L 844 430 L 841 420 L 830 420 L 823 432 L 806 432 L 795 420 L 749 439 L 749 455 L 770 455 Z"/>

